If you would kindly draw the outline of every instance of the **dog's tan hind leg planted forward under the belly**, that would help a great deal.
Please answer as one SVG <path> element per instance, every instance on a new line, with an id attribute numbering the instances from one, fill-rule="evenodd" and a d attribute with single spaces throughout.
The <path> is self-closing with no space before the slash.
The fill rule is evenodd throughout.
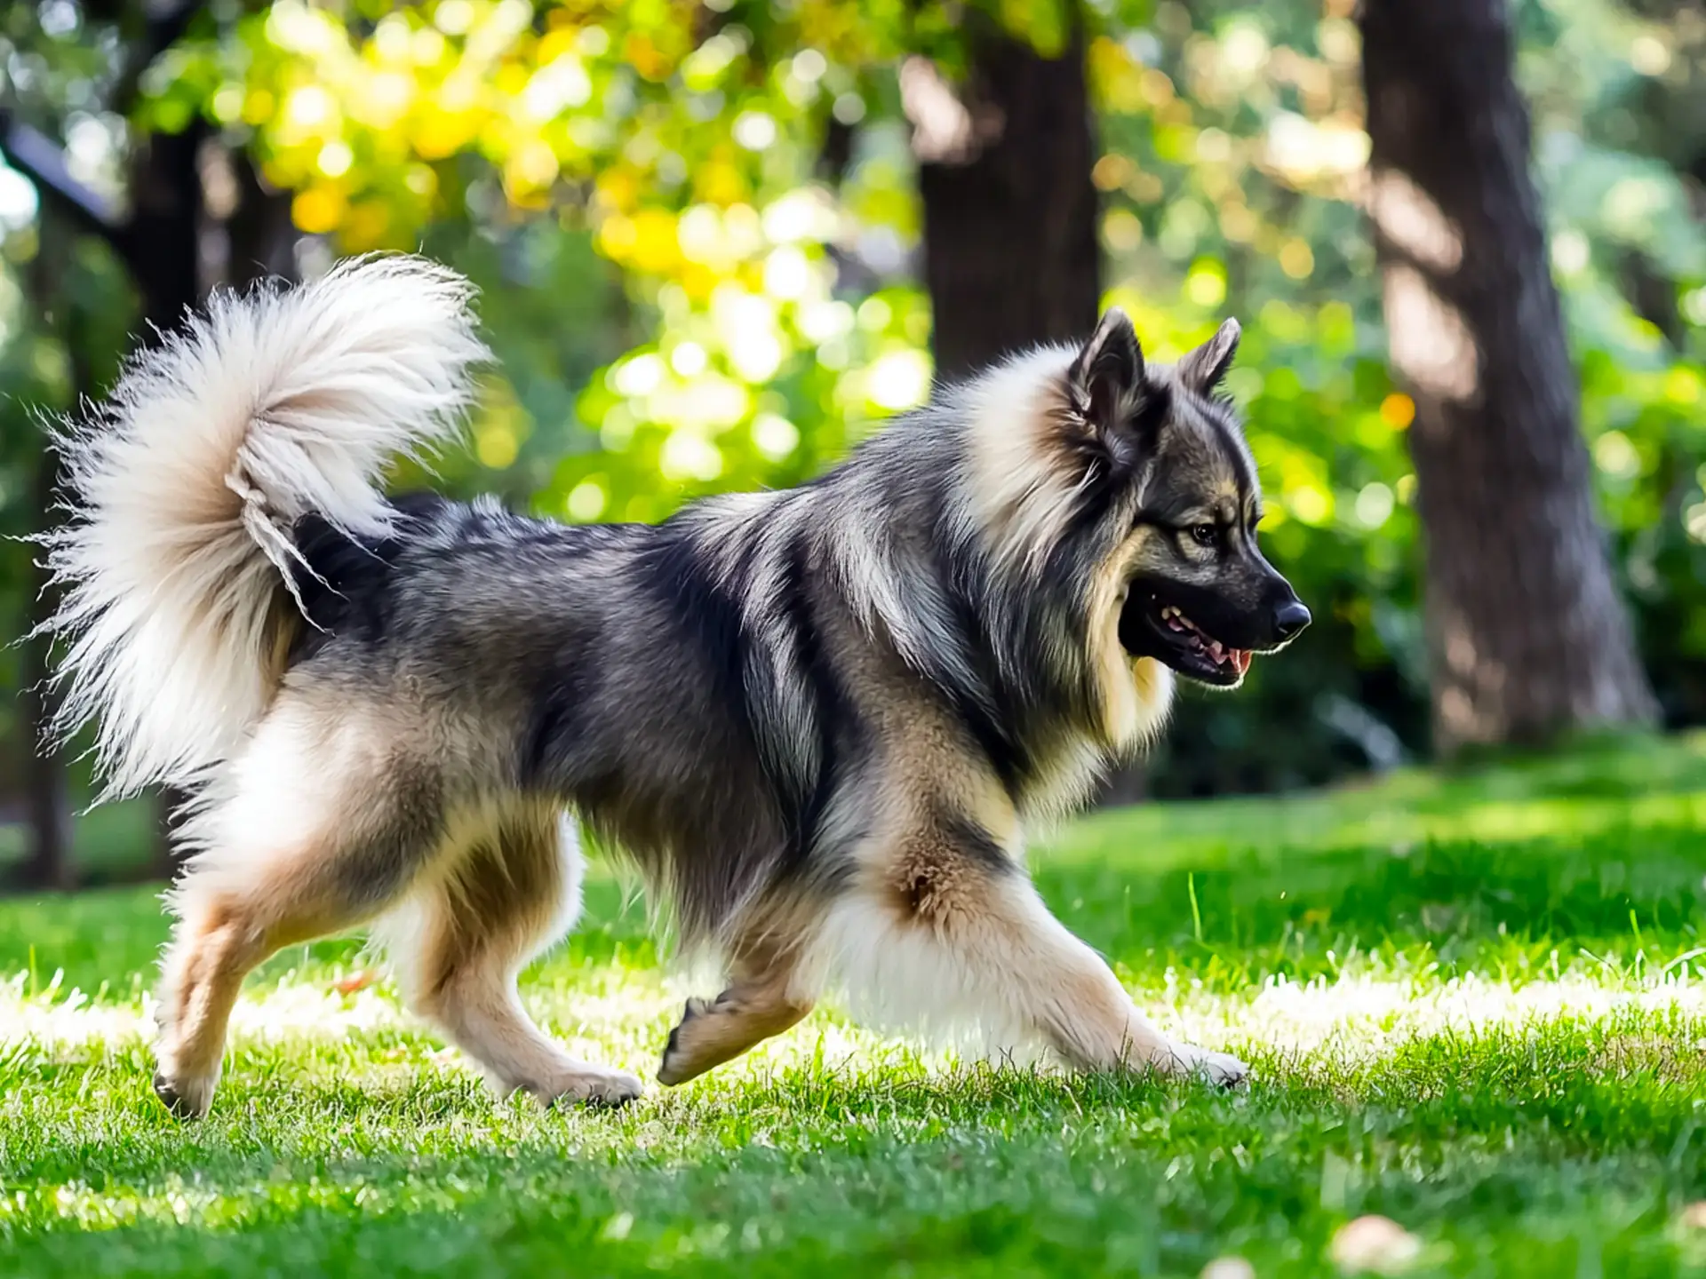
<path id="1" fill-rule="evenodd" d="M 568 1056 L 515 989 L 522 965 L 580 911 L 580 848 L 565 827 L 544 803 L 493 813 L 382 933 L 409 1006 L 479 1062 L 498 1093 L 621 1105 L 640 1097 L 640 1081 Z"/>

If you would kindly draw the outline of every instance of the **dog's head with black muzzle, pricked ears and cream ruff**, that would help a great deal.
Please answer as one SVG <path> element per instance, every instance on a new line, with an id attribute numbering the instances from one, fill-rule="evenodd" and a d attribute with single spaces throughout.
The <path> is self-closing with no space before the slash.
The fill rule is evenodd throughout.
<path id="1" fill-rule="evenodd" d="M 1218 392 L 1237 344 L 1227 321 L 1177 365 L 1150 365 L 1111 310 L 1065 360 L 1044 353 L 983 387 L 984 537 L 1036 599 L 1070 597 L 1087 658 L 1071 682 L 1111 745 L 1153 730 L 1165 706 L 1153 662 L 1230 689 L 1252 653 L 1309 624 L 1257 546 L 1256 466 Z"/>

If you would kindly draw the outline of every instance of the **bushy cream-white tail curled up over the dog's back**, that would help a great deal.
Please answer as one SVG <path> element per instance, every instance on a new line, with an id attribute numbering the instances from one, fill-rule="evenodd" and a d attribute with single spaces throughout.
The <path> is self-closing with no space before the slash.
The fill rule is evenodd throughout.
<path id="1" fill-rule="evenodd" d="M 70 515 L 43 539 L 68 641 L 58 730 L 96 723 L 107 795 L 194 786 L 264 713 L 292 525 L 386 530 L 380 471 L 457 431 L 486 358 L 471 295 L 391 256 L 223 295 L 67 425 Z"/>

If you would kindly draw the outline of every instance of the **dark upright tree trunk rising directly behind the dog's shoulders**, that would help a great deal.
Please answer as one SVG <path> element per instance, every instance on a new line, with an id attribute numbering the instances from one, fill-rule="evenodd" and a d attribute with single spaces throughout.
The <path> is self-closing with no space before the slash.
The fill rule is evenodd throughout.
<path id="1" fill-rule="evenodd" d="M 901 75 L 942 377 L 1083 338 L 1100 300 L 1082 24 L 1059 58 L 1044 58 L 976 10 L 966 20 L 966 85 L 923 58 Z"/>

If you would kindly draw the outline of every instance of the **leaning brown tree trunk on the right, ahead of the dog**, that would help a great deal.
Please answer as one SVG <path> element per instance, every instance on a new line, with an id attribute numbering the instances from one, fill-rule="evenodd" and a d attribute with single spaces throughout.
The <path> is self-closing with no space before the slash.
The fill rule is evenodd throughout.
<path id="1" fill-rule="evenodd" d="M 1593 515 L 1506 0 L 1365 0 L 1370 211 L 1425 532 L 1436 744 L 1646 721 Z"/>

